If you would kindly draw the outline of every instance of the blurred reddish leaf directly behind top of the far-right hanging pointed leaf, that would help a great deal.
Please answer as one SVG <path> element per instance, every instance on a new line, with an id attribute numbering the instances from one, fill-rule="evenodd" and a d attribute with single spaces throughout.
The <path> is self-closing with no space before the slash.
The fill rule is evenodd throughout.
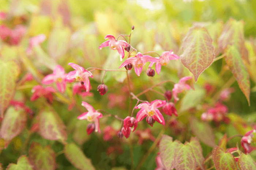
<path id="1" fill-rule="evenodd" d="M 245 59 L 246 62 L 250 63 L 248 51 L 245 48 L 244 42 L 244 21 L 236 21 L 233 18 L 230 18 L 225 24 L 222 34 L 218 40 L 218 45 L 221 51 L 225 52 L 228 45 L 234 45 L 239 49 L 239 53 L 242 58 Z"/>

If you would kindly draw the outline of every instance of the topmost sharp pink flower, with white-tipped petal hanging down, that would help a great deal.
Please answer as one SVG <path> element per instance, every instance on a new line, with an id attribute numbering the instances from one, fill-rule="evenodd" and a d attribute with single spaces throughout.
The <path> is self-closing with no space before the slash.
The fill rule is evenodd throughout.
<path id="1" fill-rule="evenodd" d="M 124 47 L 127 47 L 129 44 L 124 41 L 124 40 L 116 40 L 116 38 L 113 35 L 106 35 L 105 39 L 109 39 L 105 42 L 103 42 L 100 46 L 99 49 L 101 50 L 103 47 L 109 46 L 110 49 L 112 50 L 117 50 L 118 53 L 120 54 L 120 61 L 124 58 Z"/>

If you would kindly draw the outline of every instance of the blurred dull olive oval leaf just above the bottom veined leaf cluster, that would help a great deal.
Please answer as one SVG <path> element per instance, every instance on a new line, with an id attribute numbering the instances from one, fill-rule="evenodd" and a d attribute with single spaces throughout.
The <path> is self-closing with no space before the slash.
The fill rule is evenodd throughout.
<path id="1" fill-rule="evenodd" d="M 213 130 L 207 122 L 201 122 L 195 117 L 191 117 L 189 123 L 191 130 L 200 141 L 210 147 L 214 147 L 216 145 Z"/>

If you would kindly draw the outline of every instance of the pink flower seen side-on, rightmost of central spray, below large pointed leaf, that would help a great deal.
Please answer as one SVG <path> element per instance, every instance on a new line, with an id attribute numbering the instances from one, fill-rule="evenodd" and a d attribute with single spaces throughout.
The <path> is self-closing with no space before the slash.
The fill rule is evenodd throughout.
<path id="1" fill-rule="evenodd" d="M 173 97 L 174 97 L 174 101 L 176 103 L 176 101 L 180 100 L 178 98 L 178 93 L 182 93 L 185 90 L 189 90 L 191 89 L 191 86 L 189 86 L 188 84 L 186 84 L 186 81 L 192 79 L 191 76 L 187 76 L 187 77 L 182 77 L 180 79 L 180 81 L 177 84 L 174 84 L 174 88 L 173 88 Z"/>

